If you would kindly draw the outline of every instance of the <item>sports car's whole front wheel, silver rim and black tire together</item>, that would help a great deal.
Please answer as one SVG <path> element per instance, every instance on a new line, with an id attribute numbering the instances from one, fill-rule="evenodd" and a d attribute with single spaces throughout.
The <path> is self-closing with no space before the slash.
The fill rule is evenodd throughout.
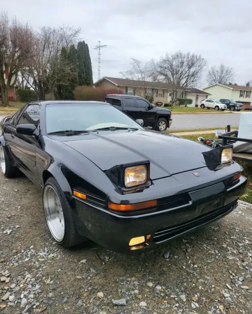
<path id="1" fill-rule="evenodd" d="M 86 240 L 79 235 L 73 210 L 55 178 L 49 178 L 44 186 L 43 207 L 47 226 L 58 244 L 72 247 Z"/>

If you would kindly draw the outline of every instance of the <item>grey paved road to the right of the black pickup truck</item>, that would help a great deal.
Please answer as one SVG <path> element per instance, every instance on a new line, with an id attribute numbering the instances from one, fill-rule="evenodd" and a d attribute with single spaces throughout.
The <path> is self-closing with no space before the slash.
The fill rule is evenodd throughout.
<path id="1" fill-rule="evenodd" d="M 0 120 L 3 117 L 0 116 Z M 220 128 L 230 124 L 239 125 L 239 113 L 213 113 L 213 114 L 174 114 L 170 130 L 192 130 L 205 128 Z"/>

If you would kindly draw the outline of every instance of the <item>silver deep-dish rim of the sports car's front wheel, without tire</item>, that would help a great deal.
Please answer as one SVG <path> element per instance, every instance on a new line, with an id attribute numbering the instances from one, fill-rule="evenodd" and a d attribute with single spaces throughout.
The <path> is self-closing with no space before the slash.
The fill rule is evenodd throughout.
<path id="1" fill-rule="evenodd" d="M 47 185 L 44 189 L 43 204 L 50 232 L 56 241 L 61 242 L 65 235 L 65 221 L 62 205 L 52 185 Z"/>

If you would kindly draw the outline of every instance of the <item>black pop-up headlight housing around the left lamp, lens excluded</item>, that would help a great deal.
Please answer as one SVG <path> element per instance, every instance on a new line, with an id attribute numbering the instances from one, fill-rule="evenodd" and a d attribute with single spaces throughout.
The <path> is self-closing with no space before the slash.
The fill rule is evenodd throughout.
<path id="1" fill-rule="evenodd" d="M 124 174 L 126 168 L 137 166 L 145 166 L 146 167 L 146 182 L 143 184 L 125 187 L 124 185 Z M 127 164 L 116 165 L 111 169 L 105 171 L 105 174 L 109 177 L 109 179 L 114 183 L 116 187 L 119 187 L 123 192 L 132 192 L 136 189 L 142 189 L 148 187 L 150 183 L 150 161 L 143 160 L 139 162 L 131 162 Z"/>

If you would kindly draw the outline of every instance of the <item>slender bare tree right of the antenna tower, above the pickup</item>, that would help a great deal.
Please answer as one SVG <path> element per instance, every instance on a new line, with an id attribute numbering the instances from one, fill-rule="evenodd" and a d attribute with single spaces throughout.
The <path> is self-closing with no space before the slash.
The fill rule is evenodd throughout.
<path id="1" fill-rule="evenodd" d="M 136 58 L 132 58 L 130 65 L 130 70 L 120 72 L 120 74 L 123 76 L 123 78 L 138 81 L 138 86 L 136 86 L 136 82 L 132 82 L 131 85 L 132 87 L 136 87 L 136 93 L 139 96 L 153 96 L 154 89 L 152 88 L 151 92 L 149 92 L 149 89 L 147 89 L 147 82 L 153 80 L 153 68 L 151 61 L 143 63 Z"/>

